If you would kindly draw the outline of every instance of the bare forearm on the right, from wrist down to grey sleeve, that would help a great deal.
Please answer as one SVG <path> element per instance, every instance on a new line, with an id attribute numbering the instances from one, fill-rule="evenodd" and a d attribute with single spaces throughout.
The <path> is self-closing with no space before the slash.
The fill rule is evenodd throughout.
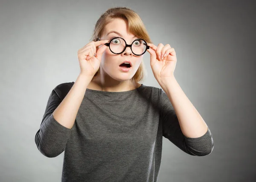
<path id="1" fill-rule="evenodd" d="M 203 136 L 207 132 L 208 126 L 186 97 L 175 77 L 170 77 L 168 80 L 160 82 L 160 86 L 172 103 L 182 133 L 189 138 Z"/>

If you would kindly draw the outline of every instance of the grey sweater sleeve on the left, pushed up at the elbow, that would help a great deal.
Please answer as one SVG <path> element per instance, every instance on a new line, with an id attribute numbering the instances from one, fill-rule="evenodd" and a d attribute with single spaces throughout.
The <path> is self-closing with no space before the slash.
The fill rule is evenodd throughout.
<path id="1" fill-rule="evenodd" d="M 62 101 L 59 95 L 55 89 L 52 90 L 40 129 L 35 134 L 38 150 L 47 157 L 56 157 L 61 154 L 71 135 L 71 129 L 61 125 L 52 115 Z"/>

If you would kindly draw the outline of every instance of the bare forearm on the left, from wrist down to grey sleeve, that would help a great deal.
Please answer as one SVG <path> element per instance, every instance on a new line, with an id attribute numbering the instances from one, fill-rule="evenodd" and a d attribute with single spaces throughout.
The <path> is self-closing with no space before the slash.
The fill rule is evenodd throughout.
<path id="1" fill-rule="evenodd" d="M 79 74 L 67 96 L 52 113 L 54 119 L 66 128 L 73 127 L 86 88 L 91 80 L 92 78 Z"/>

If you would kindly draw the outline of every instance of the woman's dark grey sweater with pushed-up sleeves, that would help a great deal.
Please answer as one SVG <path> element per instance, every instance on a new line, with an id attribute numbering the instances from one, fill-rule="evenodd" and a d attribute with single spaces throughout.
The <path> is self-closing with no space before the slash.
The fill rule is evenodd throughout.
<path id="1" fill-rule="evenodd" d="M 143 84 L 122 92 L 87 89 L 73 128 L 66 128 L 52 112 L 73 84 L 52 90 L 35 135 L 44 156 L 64 151 L 62 182 L 157 182 L 163 137 L 192 156 L 212 152 L 209 128 L 202 137 L 185 137 L 163 89 Z"/>

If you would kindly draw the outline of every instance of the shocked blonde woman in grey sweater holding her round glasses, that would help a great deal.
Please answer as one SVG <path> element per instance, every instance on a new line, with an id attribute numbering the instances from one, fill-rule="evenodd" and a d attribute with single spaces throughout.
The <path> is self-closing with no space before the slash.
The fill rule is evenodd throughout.
<path id="1" fill-rule="evenodd" d="M 143 54 L 161 88 L 140 84 Z M 156 182 L 166 137 L 187 154 L 212 152 L 208 126 L 174 77 L 171 46 L 152 44 L 131 9 L 108 9 L 78 51 L 76 82 L 56 86 L 35 136 L 47 157 L 64 152 L 62 182 Z"/>

